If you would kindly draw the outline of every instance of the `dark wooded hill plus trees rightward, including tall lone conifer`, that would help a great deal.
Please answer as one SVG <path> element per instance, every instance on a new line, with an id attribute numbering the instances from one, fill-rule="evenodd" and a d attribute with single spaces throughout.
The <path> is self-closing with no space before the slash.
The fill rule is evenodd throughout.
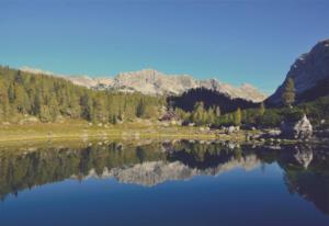
<path id="1" fill-rule="evenodd" d="M 271 109 L 266 109 L 265 103 L 249 103 L 240 99 L 227 100 L 227 97 L 204 88 L 190 90 L 181 97 L 169 98 L 169 101 L 184 122 L 196 125 L 277 127 L 285 120 L 298 121 L 306 114 L 313 125 L 327 128 L 329 127 L 329 97 L 325 89 L 327 84 L 328 81 L 324 81 L 324 86 L 318 86 L 318 91 L 313 90 L 308 93 L 307 97 L 314 101 L 300 103 L 296 102 L 294 80 L 288 79 L 282 94 L 284 105 Z M 311 94 L 319 94 L 320 98 Z"/>

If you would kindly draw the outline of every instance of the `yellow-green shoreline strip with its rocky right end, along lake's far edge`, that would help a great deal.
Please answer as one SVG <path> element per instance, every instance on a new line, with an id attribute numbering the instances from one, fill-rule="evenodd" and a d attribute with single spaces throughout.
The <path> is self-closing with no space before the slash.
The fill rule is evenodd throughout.
<path id="1" fill-rule="evenodd" d="M 0 144 L 33 142 L 90 142 L 90 140 L 139 140 L 139 139 L 194 139 L 235 142 L 249 144 L 314 144 L 315 140 L 300 142 L 292 139 L 253 138 L 261 137 L 264 131 L 239 131 L 227 134 L 222 129 L 208 129 L 203 126 L 159 126 L 145 123 L 127 123 L 121 125 L 90 125 L 81 122 L 47 124 L 10 124 L 0 126 Z M 326 143 L 326 140 L 324 142 Z M 16 144 L 19 145 L 19 144 Z"/>

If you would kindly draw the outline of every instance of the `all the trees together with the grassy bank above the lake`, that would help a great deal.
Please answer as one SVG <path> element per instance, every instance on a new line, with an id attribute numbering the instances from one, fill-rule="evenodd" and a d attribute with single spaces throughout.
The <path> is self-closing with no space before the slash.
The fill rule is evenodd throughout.
<path id="1" fill-rule="evenodd" d="M 282 98 L 285 105 L 266 108 L 241 99 L 229 101 L 206 89 L 192 89 L 181 97 L 99 91 L 59 77 L 0 67 L 0 142 L 91 137 L 243 140 L 243 133 L 230 137 L 218 128 L 273 128 L 303 114 L 316 127 L 329 127 L 329 97 L 293 106 L 291 79 Z M 163 120 L 168 112 L 173 114 Z"/>

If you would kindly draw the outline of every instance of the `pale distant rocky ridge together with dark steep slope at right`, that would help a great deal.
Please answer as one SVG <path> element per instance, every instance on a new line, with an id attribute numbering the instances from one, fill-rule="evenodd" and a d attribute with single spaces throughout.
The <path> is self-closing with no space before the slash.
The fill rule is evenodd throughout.
<path id="1" fill-rule="evenodd" d="M 294 80 L 297 103 L 329 94 L 329 39 L 317 43 L 309 53 L 300 55 L 291 66 L 284 82 L 268 99 L 264 93 L 248 83 L 234 87 L 216 79 L 197 80 L 190 75 L 166 75 L 155 69 L 120 72 L 114 77 L 99 78 L 55 75 L 50 71 L 30 67 L 23 67 L 21 70 L 59 76 L 75 84 L 95 90 L 138 91 L 151 95 L 180 95 L 192 89 L 205 88 L 225 94 L 229 99 L 242 99 L 256 103 L 265 101 L 269 105 L 281 105 L 282 93 L 288 78 Z"/>

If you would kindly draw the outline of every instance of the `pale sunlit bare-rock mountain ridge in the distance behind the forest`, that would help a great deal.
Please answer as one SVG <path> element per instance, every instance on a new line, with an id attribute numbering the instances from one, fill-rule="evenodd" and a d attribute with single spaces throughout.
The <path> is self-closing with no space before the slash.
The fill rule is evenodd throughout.
<path id="1" fill-rule="evenodd" d="M 53 75 L 49 71 L 24 67 L 29 72 Z M 54 75 L 53 75 L 54 76 Z M 112 89 L 123 92 L 138 91 L 145 94 L 181 94 L 190 89 L 204 87 L 224 93 L 231 99 L 241 98 L 261 102 L 266 97 L 251 84 L 232 87 L 216 79 L 196 80 L 189 75 L 166 75 L 154 69 L 121 72 L 114 78 L 90 78 L 88 76 L 61 76 L 71 82 L 93 89 Z"/>

